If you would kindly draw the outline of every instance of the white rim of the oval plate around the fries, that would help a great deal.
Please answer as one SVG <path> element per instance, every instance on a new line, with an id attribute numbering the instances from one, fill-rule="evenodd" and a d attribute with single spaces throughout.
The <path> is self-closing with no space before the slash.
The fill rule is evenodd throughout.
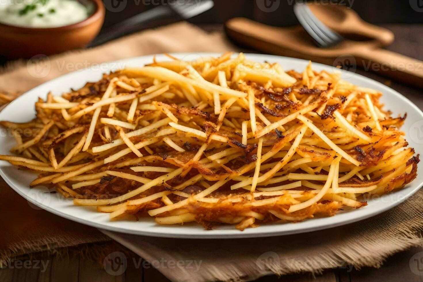
<path id="1" fill-rule="evenodd" d="M 238 52 L 234 52 L 234 55 L 239 54 Z M 153 58 L 153 56 L 162 56 L 163 54 L 151 54 L 151 55 L 143 55 L 143 56 L 137 56 L 137 57 L 130 57 L 130 58 L 126 58 L 126 59 L 121 59 L 121 60 L 113 60 L 110 62 L 105 62 L 106 64 L 112 64 L 112 63 L 119 63 L 119 62 L 130 62 L 131 60 L 147 60 L 149 58 Z M 188 55 L 200 55 L 200 56 L 219 56 L 221 55 L 220 53 L 217 52 L 173 52 L 170 53 L 170 55 L 173 56 L 188 56 Z M 246 57 L 260 57 L 260 58 L 266 58 L 267 60 L 283 60 L 286 63 L 290 63 L 290 61 L 294 61 L 294 62 L 300 62 L 303 64 L 307 64 L 309 60 L 304 60 L 304 59 L 298 59 L 298 58 L 293 58 L 293 57 L 285 57 L 285 56 L 278 56 L 278 55 L 267 55 L 267 54 L 254 54 L 254 53 L 244 53 L 244 55 Z M 330 68 L 331 66 L 329 65 L 324 65 L 321 63 L 313 63 L 313 66 L 317 66 L 319 68 Z M 128 63 L 130 64 L 130 63 Z M 125 66 L 126 67 L 126 66 Z M 52 83 L 53 81 L 57 80 L 57 79 L 63 79 L 67 76 L 71 76 L 76 72 L 85 72 L 85 71 L 93 71 L 92 67 L 91 68 L 85 68 L 83 70 L 76 70 L 76 71 L 71 71 L 67 74 L 63 74 L 59 77 L 55 77 L 54 79 L 50 79 L 47 82 L 44 82 L 40 85 L 37 85 L 35 88 L 32 88 L 28 91 L 26 91 L 25 93 L 23 93 L 22 95 L 20 95 L 18 98 L 16 98 L 14 101 L 12 101 L 11 103 L 9 103 L 6 107 L 3 108 L 3 110 L 5 110 L 6 108 L 8 108 L 10 105 L 12 105 L 13 103 L 19 101 L 20 99 L 23 99 L 25 95 L 27 95 L 27 93 L 32 92 L 32 91 L 36 91 L 38 88 L 44 88 L 46 84 Z M 94 71 L 95 73 L 98 74 L 104 74 L 104 73 L 108 73 L 111 70 L 107 70 L 107 71 Z M 377 82 L 374 79 L 371 79 L 369 77 L 365 77 L 364 75 L 361 74 L 357 74 L 355 72 L 351 72 L 348 71 L 348 73 L 352 73 L 354 76 L 357 76 L 359 80 L 365 82 L 366 84 L 369 85 L 376 85 L 378 88 L 381 88 L 382 93 L 385 93 L 385 91 L 390 92 L 391 94 L 395 95 L 398 99 L 401 99 L 403 101 L 405 101 L 407 104 L 409 104 L 410 107 L 412 107 L 416 112 L 419 113 L 420 117 L 423 119 L 423 112 L 422 110 L 420 110 L 412 101 L 410 101 L 407 97 L 401 95 L 401 93 L 399 93 L 398 91 L 388 87 L 387 85 L 384 85 L 381 82 Z M 348 81 L 348 79 L 346 79 Z M 87 82 L 87 81 L 85 81 Z M 62 91 L 63 93 L 63 91 Z M 3 112 L 3 110 L 1 112 Z M 0 115 L 1 115 L 0 112 Z M 401 199 L 387 203 L 386 205 L 383 206 L 383 208 L 379 208 L 376 209 L 374 211 L 370 211 L 367 214 L 364 214 L 362 216 L 356 216 L 352 219 L 344 220 L 344 221 L 338 221 L 336 220 L 338 217 L 337 215 L 335 216 L 330 216 L 330 217 L 326 217 L 327 219 L 335 219 L 332 222 L 327 222 L 321 225 L 315 225 L 315 226 L 311 226 L 311 227 L 306 227 L 306 228 L 301 228 L 301 229 L 292 229 L 292 230 L 283 230 L 283 228 L 280 228 L 280 230 L 274 230 L 271 233 L 263 233 L 263 232 L 249 232 L 249 233 L 245 233 L 245 231 L 239 231 L 236 230 L 237 233 L 226 233 L 226 234 L 216 234 L 213 231 L 226 231 L 226 230 L 203 230 L 203 233 L 201 234 L 190 234 L 190 233 L 168 233 L 168 232 L 157 232 L 157 231 L 148 231 L 148 230 L 132 230 L 132 229 L 126 229 L 123 227 L 116 227 L 116 226 L 111 226 L 111 225 L 104 225 L 103 223 L 100 222 L 92 222 L 92 221 L 87 221 L 85 219 L 82 219 L 81 217 L 78 216 L 73 216 L 71 214 L 66 214 L 63 213 L 60 210 L 57 210 L 55 208 L 50 207 L 49 205 L 45 205 L 44 203 L 39 203 L 38 201 L 36 201 L 36 199 L 33 199 L 32 197 L 29 197 L 28 195 L 26 195 L 24 193 L 24 191 L 22 191 L 21 189 L 19 189 L 13 181 L 11 181 L 11 179 L 9 179 L 6 175 L 5 172 L 3 172 L 3 168 L 0 167 L 0 176 L 5 180 L 5 182 L 12 188 L 14 189 L 15 192 L 17 192 L 20 196 L 22 196 L 25 200 L 29 201 L 30 203 L 33 203 L 34 205 L 37 205 L 38 207 L 43 208 L 46 211 L 51 212 L 52 214 L 56 214 L 58 216 L 61 216 L 63 218 L 72 220 L 74 222 L 79 222 L 82 223 L 84 225 L 88 225 L 88 226 L 92 226 L 92 227 L 96 227 L 99 229 L 104 229 L 104 230 L 110 230 L 110 231 L 114 231 L 114 232 L 119 232 L 119 233 L 126 233 L 126 234 L 134 234 L 134 235 L 144 235 L 144 236 L 151 236 L 151 237 L 159 237 L 159 238 L 196 238 L 196 239 L 227 239 L 227 238 L 259 238 L 259 237 L 273 237 L 273 236 L 280 236 L 280 235 L 291 235 L 291 234 L 300 234 L 300 233 L 308 233 L 308 232 L 313 232 L 313 231 L 317 231 L 317 230 L 324 230 L 324 229 L 329 229 L 329 228 L 333 228 L 333 227 L 339 227 L 339 226 L 343 226 L 343 225 L 347 225 L 350 223 L 354 223 L 354 222 L 358 222 L 358 221 L 362 221 L 365 219 L 368 219 L 370 217 L 376 216 L 378 214 L 382 214 L 383 212 L 390 210 L 391 208 L 396 207 L 397 205 L 403 203 L 405 200 L 407 200 L 409 197 L 411 197 L 412 195 L 414 195 L 422 186 L 423 186 L 423 179 L 420 183 L 416 183 L 415 187 L 408 192 L 408 194 L 406 194 L 406 197 L 401 197 Z M 416 181 L 418 180 L 417 178 L 415 179 Z M 393 193 L 390 193 L 388 195 L 392 195 Z M 313 220 L 313 219 L 311 219 Z M 281 225 L 274 225 L 274 226 L 284 226 L 287 224 L 296 224 L 296 223 L 284 223 Z M 167 227 L 172 228 L 170 227 Z M 175 227 L 173 227 L 175 228 Z M 259 230 L 260 227 L 258 228 L 254 228 L 254 230 Z M 188 230 L 189 231 L 189 230 Z"/>

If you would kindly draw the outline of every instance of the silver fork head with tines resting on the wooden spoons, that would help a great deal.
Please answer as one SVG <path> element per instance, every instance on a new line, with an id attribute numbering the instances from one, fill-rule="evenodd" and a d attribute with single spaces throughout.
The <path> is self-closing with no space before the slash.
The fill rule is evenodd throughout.
<path id="1" fill-rule="evenodd" d="M 310 10 L 305 2 L 294 5 L 294 14 L 307 33 L 314 39 L 319 47 L 327 48 L 338 44 L 344 38 L 339 33 L 324 25 Z"/>

